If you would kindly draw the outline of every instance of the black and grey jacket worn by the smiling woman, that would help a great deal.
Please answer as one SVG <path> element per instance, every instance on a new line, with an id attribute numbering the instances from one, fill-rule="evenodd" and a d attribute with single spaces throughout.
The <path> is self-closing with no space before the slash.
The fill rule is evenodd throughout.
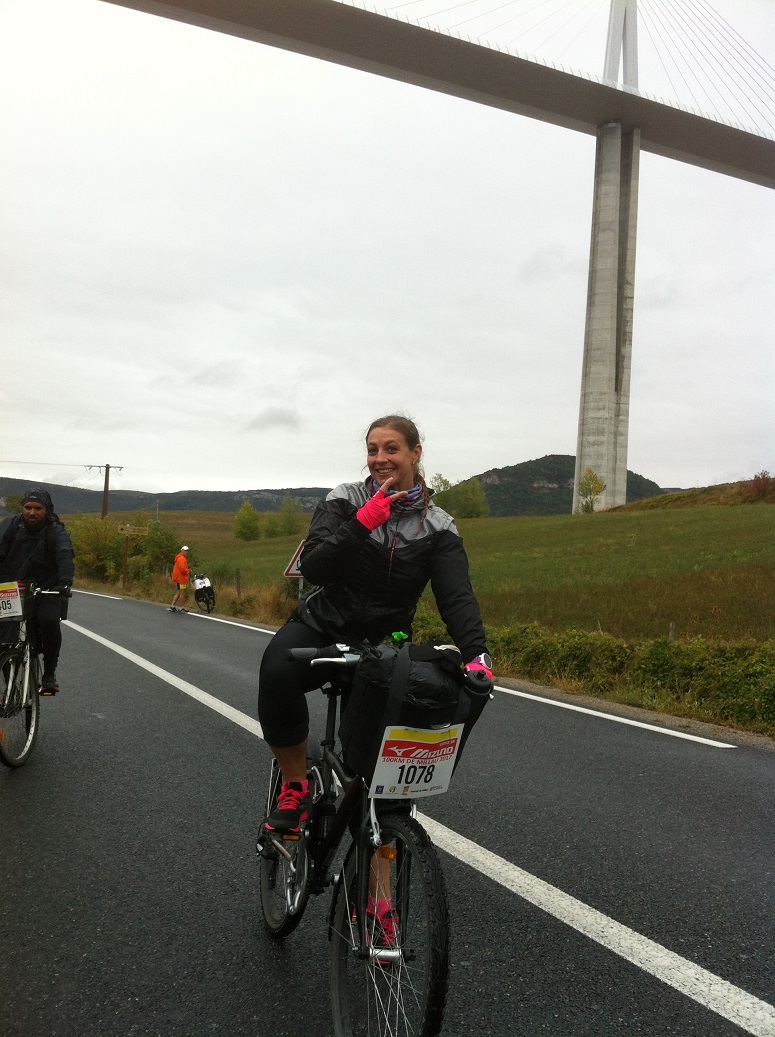
<path id="1" fill-rule="evenodd" d="M 369 480 L 370 481 L 370 480 Z M 298 616 L 332 641 L 378 644 L 394 630 L 411 636 L 417 602 L 431 581 L 450 637 L 466 662 L 487 651 L 468 558 L 454 520 L 433 503 L 396 505 L 372 533 L 355 517 L 370 492 L 365 482 L 332 489 L 315 509 L 299 559 L 316 585 Z"/>

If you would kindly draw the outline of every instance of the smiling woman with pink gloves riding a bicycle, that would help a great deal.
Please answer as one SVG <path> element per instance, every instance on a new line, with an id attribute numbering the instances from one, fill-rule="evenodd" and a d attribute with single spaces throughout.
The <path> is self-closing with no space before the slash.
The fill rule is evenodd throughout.
<path id="1" fill-rule="evenodd" d="M 433 504 L 416 425 L 399 415 L 379 418 L 366 432 L 366 452 L 365 482 L 342 483 L 317 506 L 299 560 L 315 590 L 261 660 L 258 719 L 283 777 L 278 807 L 265 822 L 271 831 L 298 831 L 309 807 L 305 694 L 320 688 L 320 677 L 289 663 L 289 648 L 378 644 L 394 630 L 411 636 L 430 581 L 467 668 L 492 677 L 468 558 L 454 520 Z"/>

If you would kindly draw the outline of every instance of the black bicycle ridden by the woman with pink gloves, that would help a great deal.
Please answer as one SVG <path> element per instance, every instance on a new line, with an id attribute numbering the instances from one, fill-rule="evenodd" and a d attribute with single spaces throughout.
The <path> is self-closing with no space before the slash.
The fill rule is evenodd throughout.
<path id="1" fill-rule="evenodd" d="M 307 761 L 309 819 L 296 835 L 268 832 L 264 825 L 259 830 L 256 849 L 266 928 L 275 938 L 289 935 L 301 922 L 309 896 L 333 886 L 328 934 L 334 1034 L 433 1037 L 441 1029 L 447 996 L 449 909 L 441 864 L 417 820 L 412 787 L 417 794 L 430 794 L 435 768 L 430 766 L 428 779 L 428 766 L 398 759 L 397 774 L 388 777 L 389 784 L 379 766 L 369 783 L 354 774 L 335 752 L 335 735 L 340 698 L 352 683 L 358 651 L 348 645 L 295 648 L 288 657 L 341 669 L 322 689 L 328 698 L 326 734 L 320 752 Z M 470 675 L 466 691 L 471 698 L 490 697 L 492 684 L 487 680 L 485 689 L 478 675 Z M 434 732 L 436 746 L 444 739 L 445 754 L 455 741 L 444 764 L 446 781 L 437 781 L 440 791 L 446 790 L 461 733 L 462 728 L 449 725 Z M 400 788 L 392 783 L 395 778 Z M 281 784 L 273 760 L 267 814 L 277 803 Z M 406 791 L 406 797 L 390 798 L 389 793 L 396 791 Z M 340 864 L 348 833 L 352 841 Z M 397 916 L 388 938 L 367 912 L 369 884 L 373 888 L 377 880 L 382 884 L 380 897 L 392 901 Z"/>

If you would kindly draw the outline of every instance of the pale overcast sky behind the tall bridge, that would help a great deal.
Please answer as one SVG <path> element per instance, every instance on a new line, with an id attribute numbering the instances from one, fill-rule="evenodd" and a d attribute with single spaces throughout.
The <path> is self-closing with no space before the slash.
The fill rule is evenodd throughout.
<path id="1" fill-rule="evenodd" d="M 592 136 L 101 0 L 0 0 L 0 475 L 330 486 L 391 411 L 428 476 L 575 453 Z M 773 242 L 642 153 L 631 470 L 775 473 Z"/>

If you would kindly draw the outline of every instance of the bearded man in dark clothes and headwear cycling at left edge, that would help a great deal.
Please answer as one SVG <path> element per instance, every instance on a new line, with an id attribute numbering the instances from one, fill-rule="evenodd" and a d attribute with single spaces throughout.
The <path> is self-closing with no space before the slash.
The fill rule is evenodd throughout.
<path id="1" fill-rule="evenodd" d="M 43 486 L 28 489 L 22 497 L 22 514 L 0 525 L 0 583 L 28 582 L 64 595 L 35 600 L 35 627 L 44 654 L 41 695 L 56 695 L 59 691 L 56 677 L 62 646 L 59 621 L 67 614 L 73 574 L 73 543 L 54 513 L 51 495 Z"/>

